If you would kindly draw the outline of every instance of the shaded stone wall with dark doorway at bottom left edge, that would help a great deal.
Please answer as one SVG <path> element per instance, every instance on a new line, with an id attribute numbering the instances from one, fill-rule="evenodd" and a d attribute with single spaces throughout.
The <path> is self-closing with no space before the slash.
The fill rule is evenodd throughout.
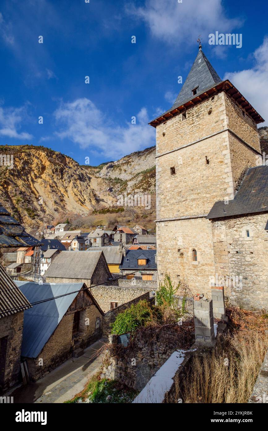
<path id="1" fill-rule="evenodd" d="M 23 311 L 0 319 L 0 338 L 7 338 L 6 363 L 4 366 L 1 390 L 6 390 L 18 383 L 20 375 L 20 357 L 22 347 Z M 3 346 L 2 346 L 3 348 Z M 2 365 L 2 364 L 1 364 Z"/>

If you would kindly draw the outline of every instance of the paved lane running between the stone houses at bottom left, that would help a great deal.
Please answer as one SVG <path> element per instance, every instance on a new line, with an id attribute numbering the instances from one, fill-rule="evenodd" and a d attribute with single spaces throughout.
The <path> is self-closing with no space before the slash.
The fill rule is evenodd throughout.
<path id="1" fill-rule="evenodd" d="M 14 403 L 63 403 L 71 400 L 99 370 L 102 357 L 95 358 L 94 354 L 106 341 L 101 338 L 87 347 L 80 358 L 68 359 L 45 377 L 21 386 L 9 395 L 14 397 Z"/>

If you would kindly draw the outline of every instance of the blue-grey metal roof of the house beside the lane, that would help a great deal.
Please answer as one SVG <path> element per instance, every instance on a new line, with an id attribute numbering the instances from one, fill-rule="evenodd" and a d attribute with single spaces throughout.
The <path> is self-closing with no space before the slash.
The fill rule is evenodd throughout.
<path id="1" fill-rule="evenodd" d="M 36 358 L 77 296 L 76 290 L 80 290 L 83 283 L 38 284 L 28 281 L 15 283 L 32 303 L 74 292 L 65 297 L 36 304 L 25 311 L 21 354 L 28 358 Z"/>

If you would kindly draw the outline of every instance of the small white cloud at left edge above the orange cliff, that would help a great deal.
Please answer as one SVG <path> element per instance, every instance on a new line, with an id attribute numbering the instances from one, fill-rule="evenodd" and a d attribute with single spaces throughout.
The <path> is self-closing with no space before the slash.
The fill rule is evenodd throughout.
<path id="1" fill-rule="evenodd" d="M 15 139 L 32 139 L 32 135 L 27 132 L 18 132 L 21 123 L 27 118 L 26 107 L 2 108 L 0 107 L 0 136 Z"/>

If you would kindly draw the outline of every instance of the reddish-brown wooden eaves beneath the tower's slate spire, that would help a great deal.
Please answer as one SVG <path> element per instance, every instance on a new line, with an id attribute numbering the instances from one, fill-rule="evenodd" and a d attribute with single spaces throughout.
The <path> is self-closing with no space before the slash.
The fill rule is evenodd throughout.
<path id="1" fill-rule="evenodd" d="M 198 96 L 193 97 L 191 100 L 185 101 L 185 103 L 183 103 L 181 106 L 166 111 L 163 115 L 151 121 L 149 125 L 156 127 L 169 118 L 178 115 L 180 112 L 185 112 L 186 109 L 203 102 L 203 100 L 209 99 L 209 97 L 212 97 L 214 94 L 220 93 L 221 91 L 225 91 L 228 96 L 234 99 L 237 104 L 240 105 L 241 108 L 246 112 L 246 114 L 248 114 L 256 122 L 256 124 L 265 121 L 262 116 L 259 115 L 256 109 L 254 109 L 253 106 L 246 100 L 246 98 L 243 97 L 240 91 L 238 91 L 237 88 L 234 87 L 234 85 L 227 79 L 225 81 L 219 82 L 219 84 L 213 85 L 202 94 L 198 94 Z"/>

